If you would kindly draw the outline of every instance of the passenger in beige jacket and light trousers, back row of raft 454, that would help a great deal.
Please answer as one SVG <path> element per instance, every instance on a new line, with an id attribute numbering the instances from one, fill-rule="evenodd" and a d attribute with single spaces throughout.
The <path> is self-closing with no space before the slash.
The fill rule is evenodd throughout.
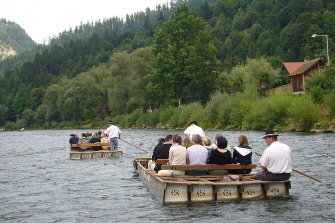
<path id="1" fill-rule="evenodd" d="M 186 148 L 181 145 L 181 137 L 179 134 L 172 135 L 172 145 L 169 151 L 169 162 L 167 164 L 186 164 Z M 162 169 L 158 174 L 185 175 L 185 170 Z"/>

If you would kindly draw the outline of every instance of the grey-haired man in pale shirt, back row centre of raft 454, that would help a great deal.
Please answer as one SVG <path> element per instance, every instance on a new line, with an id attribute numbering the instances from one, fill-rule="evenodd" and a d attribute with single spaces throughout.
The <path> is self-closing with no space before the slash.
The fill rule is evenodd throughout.
<path id="1" fill-rule="evenodd" d="M 193 134 L 191 137 L 192 146 L 186 149 L 186 164 L 191 165 L 204 165 L 208 159 L 208 150 L 204 146 L 200 145 L 201 136 L 199 134 Z M 205 175 L 206 170 L 204 169 L 187 169 L 186 175 Z"/>

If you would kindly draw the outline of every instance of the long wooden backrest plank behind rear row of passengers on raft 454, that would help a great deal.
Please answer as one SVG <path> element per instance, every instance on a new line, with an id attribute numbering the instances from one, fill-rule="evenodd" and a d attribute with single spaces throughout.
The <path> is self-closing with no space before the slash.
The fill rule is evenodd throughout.
<path id="1" fill-rule="evenodd" d="M 176 169 L 176 170 L 186 170 L 186 169 L 252 169 L 256 168 L 257 164 L 241 165 L 241 164 L 206 164 L 206 165 L 162 165 L 162 169 Z"/>

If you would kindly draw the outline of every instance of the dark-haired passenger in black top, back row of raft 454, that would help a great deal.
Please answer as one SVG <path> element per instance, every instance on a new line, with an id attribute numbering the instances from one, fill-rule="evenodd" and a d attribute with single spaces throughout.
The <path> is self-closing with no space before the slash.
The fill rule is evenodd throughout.
<path id="1" fill-rule="evenodd" d="M 231 164 L 231 153 L 226 149 L 227 139 L 224 137 L 218 137 L 217 148 L 213 149 L 210 153 L 208 164 Z M 228 174 L 228 169 L 209 169 L 209 175 L 225 175 Z"/>

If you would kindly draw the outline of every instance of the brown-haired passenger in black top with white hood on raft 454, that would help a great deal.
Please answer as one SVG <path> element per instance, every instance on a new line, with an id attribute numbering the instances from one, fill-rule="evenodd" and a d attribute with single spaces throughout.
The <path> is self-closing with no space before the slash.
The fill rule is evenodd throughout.
<path id="1" fill-rule="evenodd" d="M 252 148 L 249 146 L 248 138 L 246 135 L 241 134 L 238 136 L 238 146 L 234 147 L 233 151 L 233 164 L 248 165 L 251 164 Z M 233 169 L 233 174 L 250 173 L 251 169 Z"/>

